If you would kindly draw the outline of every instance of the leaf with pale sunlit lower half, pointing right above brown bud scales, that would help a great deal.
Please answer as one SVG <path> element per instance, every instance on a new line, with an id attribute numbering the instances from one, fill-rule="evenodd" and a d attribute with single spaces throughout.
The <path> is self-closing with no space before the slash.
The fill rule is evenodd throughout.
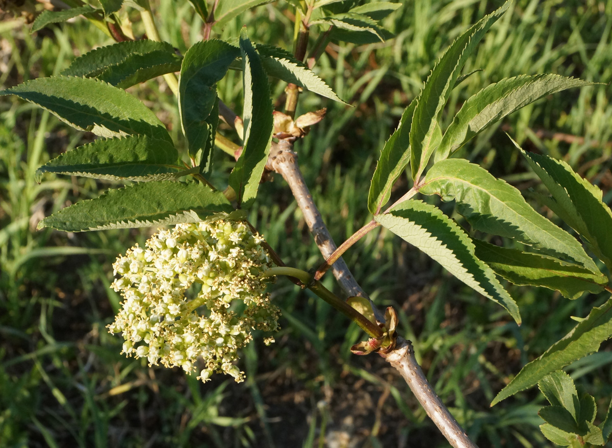
<path id="1" fill-rule="evenodd" d="M 303 62 L 294 58 L 293 54 L 288 51 L 261 44 L 257 45 L 257 51 L 261 56 L 261 65 L 271 77 L 278 78 L 286 83 L 294 83 L 311 92 L 346 104 L 325 81 L 308 69 Z"/>

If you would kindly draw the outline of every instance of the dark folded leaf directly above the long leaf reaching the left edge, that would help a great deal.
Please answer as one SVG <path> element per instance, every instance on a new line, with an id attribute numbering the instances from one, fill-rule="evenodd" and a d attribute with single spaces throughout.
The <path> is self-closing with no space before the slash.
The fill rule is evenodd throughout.
<path id="1" fill-rule="evenodd" d="M 181 70 L 181 56 L 167 42 L 127 40 L 96 48 L 76 58 L 62 75 L 98 78 L 127 89 Z"/>

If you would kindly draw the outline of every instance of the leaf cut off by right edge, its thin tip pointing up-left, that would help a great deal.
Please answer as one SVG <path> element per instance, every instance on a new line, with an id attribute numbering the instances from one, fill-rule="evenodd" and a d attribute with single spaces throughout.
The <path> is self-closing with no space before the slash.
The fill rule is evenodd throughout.
<path id="1" fill-rule="evenodd" d="M 514 144 L 553 195 L 551 210 L 580 234 L 612 272 L 612 212 L 603 203 L 602 190 L 578 176 L 562 160 L 528 153 Z"/>

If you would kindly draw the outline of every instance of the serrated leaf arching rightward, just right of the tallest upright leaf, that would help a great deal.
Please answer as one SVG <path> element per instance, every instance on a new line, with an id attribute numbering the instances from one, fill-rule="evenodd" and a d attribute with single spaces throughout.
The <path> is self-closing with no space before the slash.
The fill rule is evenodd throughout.
<path id="1" fill-rule="evenodd" d="M 436 160 L 446 159 L 480 131 L 535 100 L 565 89 L 591 84 L 549 74 L 521 75 L 491 84 L 463 103 L 444 133 L 436 151 Z"/>

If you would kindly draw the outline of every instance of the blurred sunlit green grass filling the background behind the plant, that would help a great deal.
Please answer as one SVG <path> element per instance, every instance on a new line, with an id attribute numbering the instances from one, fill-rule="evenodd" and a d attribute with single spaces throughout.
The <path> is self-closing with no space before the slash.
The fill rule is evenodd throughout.
<path id="1" fill-rule="evenodd" d="M 498 3 L 405 2 L 386 20 L 396 39 L 364 47 L 332 45 L 330 53 L 337 56 L 321 58 L 319 75 L 357 106 L 303 94 L 301 111 L 327 106 L 328 112 L 296 148 L 337 242 L 367 222 L 367 191 L 379 150 L 441 51 Z M 188 2 L 162 5 L 157 9 L 162 39 L 184 52 L 199 39 L 201 21 Z M 291 47 L 291 21 L 274 5 L 245 13 L 225 27 L 222 37 L 235 37 L 243 23 L 253 40 Z M 611 29 L 612 1 L 517 1 L 469 59 L 465 72 L 483 71 L 455 89 L 449 110 L 489 83 L 520 73 L 553 72 L 609 83 Z M 34 35 L 26 28 L 2 28 L 0 39 L 6 48 L 2 88 L 58 73 L 75 55 L 111 43 L 83 20 Z M 222 99 L 237 111 L 241 86 L 235 72 L 218 85 Z M 272 88 L 277 95 L 282 89 L 280 84 Z M 169 89 L 152 81 L 130 92 L 171 125 L 180 147 Z M 464 155 L 521 189 L 534 186 L 502 132 L 507 130 L 525 147 L 567 160 L 598 184 L 609 202 L 610 93 L 608 86 L 594 86 L 548 97 L 483 133 Z M 34 231 L 43 216 L 95 197 L 111 184 L 60 176 L 45 176 L 36 184 L 37 166 L 91 136 L 6 97 L 0 117 L 2 446 L 312 447 L 345 436 L 357 446 L 446 446 L 383 359 L 349 354 L 362 332 L 285 280 L 272 289 L 283 309 L 283 329 L 273 346 L 256 342 L 245 350 L 245 383 L 215 378 L 201 384 L 182 371 L 125 359 L 119 354 L 121 342 L 105 330 L 119 303 L 108 289 L 111 263 L 135 242 L 142 244 L 151 230 Z M 221 152 L 215 163 L 225 173 L 231 169 Z M 214 182 L 226 182 L 223 171 Z M 405 176 L 394 195 L 408 186 Z M 251 222 L 289 265 L 318 266 L 321 256 L 282 179 L 261 190 Z M 452 212 L 452 204 L 445 207 Z M 398 310 L 401 332 L 414 341 L 431 383 L 481 446 L 547 446 L 537 417 L 544 403 L 534 390 L 492 409 L 488 403 L 526 362 L 573 327 L 570 316 L 584 316 L 602 297 L 570 302 L 544 289 L 510 288 L 524 319 L 518 328 L 500 307 L 462 288 L 386 231 L 368 234 L 345 259 L 380 307 Z M 324 282 L 335 288 L 329 275 Z M 609 365 L 610 352 L 603 351 L 569 369 L 602 409 L 612 395 Z"/>

